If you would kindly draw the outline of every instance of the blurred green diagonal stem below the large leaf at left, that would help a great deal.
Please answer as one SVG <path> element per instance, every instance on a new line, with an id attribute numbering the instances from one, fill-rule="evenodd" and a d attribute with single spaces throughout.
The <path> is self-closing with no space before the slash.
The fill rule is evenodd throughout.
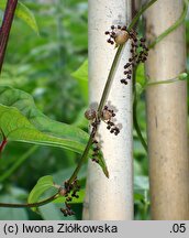
<path id="1" fill-rule="evenodd" d="M 26 151 L 22 156 L 19 158 L 19 160 L 13 163 L 13 165 L 8 169 L 1 176 L 0 176 L 0 182 L 3 182 L 8 177 L 11 176 L 11 174 L 31 155 L 33 154 L 36 150 L 38 149 L 37 145 L 32 147 L 29 151 Z"/>

